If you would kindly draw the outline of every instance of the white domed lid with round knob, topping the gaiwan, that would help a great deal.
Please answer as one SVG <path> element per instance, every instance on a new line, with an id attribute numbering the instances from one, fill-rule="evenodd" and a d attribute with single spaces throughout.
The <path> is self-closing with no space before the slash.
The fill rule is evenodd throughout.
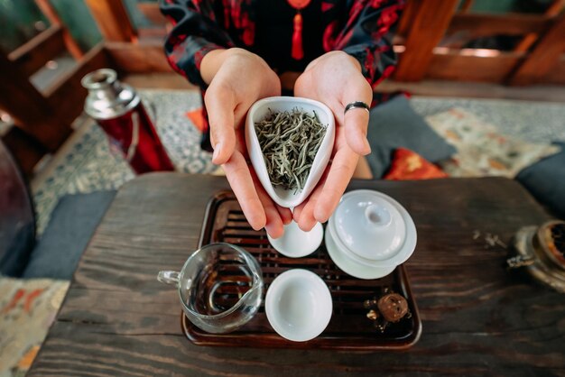
<path id="1" fill-rule="evenodd" d="M 371 264 L 403 263 L 416 246 L 416 226 L 408 211 L 374 190 L 347 192 L 329 226 L 338 244 Z"/>

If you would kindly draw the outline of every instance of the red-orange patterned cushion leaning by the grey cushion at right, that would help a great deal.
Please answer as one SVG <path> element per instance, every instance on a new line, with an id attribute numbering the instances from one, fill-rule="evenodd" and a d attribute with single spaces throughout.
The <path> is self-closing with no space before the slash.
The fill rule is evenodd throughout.
<path id="1" fill-rule="evenodd" d="M 434 179 L 446 178 L 448 175 L 436 165 L 426 161 L 420 154 L 408 149 L 398 148 L 394 151 L 393 162 L 384 179 Z"/>

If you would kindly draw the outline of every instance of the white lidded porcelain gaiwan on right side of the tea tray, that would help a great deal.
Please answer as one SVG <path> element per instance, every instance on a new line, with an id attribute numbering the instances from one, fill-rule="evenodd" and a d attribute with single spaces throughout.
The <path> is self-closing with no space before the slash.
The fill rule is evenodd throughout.
<path id="1" fill-rule="evenodd" d="M 326 228 L 333 262 L 359 279 L 382 278 L 406 262 L 416 247 L 416 226 L 408 211 L 381 192 L 345 194 Z"/>

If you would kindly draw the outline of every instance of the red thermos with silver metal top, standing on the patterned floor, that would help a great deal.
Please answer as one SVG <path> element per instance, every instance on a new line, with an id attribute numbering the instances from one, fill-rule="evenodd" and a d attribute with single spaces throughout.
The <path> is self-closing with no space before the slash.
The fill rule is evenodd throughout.
<path id="1" fill-rule="evenodd" d="M 113 69 L 98 69 L 82 78 L 88 89 L 85 112 L 107 133 L 137 174 L 174 170 L 141 98 L 117 80 Z"/>

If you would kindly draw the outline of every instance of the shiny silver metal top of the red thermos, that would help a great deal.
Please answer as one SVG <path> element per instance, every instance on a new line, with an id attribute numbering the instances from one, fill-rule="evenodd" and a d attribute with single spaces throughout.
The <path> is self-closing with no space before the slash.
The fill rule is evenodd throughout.
<path id="1" fill-rule="evenodd" d="M 124 115 L 139 104 L 134 89 L 117 80 L 114 69 L 97 69 L 80 81 L 88 89 L 85 112 L 95 119 L 112 119 Z"/>

